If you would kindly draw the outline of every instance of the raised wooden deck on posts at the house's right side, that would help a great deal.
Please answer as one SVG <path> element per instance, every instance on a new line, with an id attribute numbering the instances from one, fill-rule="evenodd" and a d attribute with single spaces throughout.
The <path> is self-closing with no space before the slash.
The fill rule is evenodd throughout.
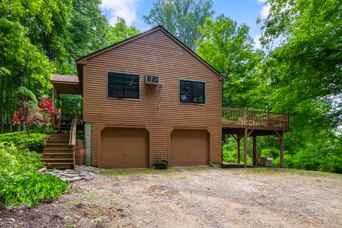
<path id="1" fill-rule="evenodd" d="M 240 163 L 240 142 L 244 138 L 244 167 L 247 167 L 247 142 L 253 138 L 253 165 L 257 165 L 257 136 L 276 135 L 280 142 L 280 167 L 284 168 L 284 133 L 289 128 L 289 114 L 238 108 L 222 109 L 222 141 L 232 135 L 237 141 L 237 163 Z"/>

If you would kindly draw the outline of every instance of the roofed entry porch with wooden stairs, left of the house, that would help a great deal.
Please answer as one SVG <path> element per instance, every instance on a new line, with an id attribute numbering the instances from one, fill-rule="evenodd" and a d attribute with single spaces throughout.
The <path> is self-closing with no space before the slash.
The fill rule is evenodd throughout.
<path id="1" fill-rule="evenodd" d="M 53 109 L 58 110 L 59 113 L 53 115 L 51 125 L 60 134 L 53 134 L 46 140 L 43 162 L 49 168 L 74 168 L 78 156 L 76 150 L 80 147 L 77 144 L 76 135 L 78 130 L 83 130 L 83 113 L 82 110 L 76 108 L 72 108 L 72 112 L 69 108 L 69 111 L 64 113 L 63 105 L 68 104 L 61 103 L 60 95 L 81 95 L 81 86 L 78 76 L 53 74 L 51 83 L 53 84 L 51 91 Z"/>

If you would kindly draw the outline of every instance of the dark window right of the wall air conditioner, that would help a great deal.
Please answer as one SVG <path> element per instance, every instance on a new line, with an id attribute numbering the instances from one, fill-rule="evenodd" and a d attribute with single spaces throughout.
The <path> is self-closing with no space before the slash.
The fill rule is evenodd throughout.
<path id="1" fill-rule="evenodd" d="M 205 82 L 180 79 L 180 103 L 205 104 Z"/>

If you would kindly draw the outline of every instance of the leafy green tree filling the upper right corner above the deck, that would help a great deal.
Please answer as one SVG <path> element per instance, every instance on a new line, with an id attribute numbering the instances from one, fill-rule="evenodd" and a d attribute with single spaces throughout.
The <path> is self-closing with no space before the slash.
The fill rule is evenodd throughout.
<path id="1" fill-rule="evenodd" d="M 340 103 L 342 90 L 341 1 L 269 1 L 271 11 L 264 21 L 265 45 L 286 39 L 271 54 L 264 73 L 271 77 L 274 105 L 291 108 L 301 102 Z M 291 95 L 291 96 L 289 96 Z M 280 99 L 283 97 L 283 99 Z M 277 103 L 278 101 L 278 103 Z M 333 110 L 342 118 L 341 110 Z"/>

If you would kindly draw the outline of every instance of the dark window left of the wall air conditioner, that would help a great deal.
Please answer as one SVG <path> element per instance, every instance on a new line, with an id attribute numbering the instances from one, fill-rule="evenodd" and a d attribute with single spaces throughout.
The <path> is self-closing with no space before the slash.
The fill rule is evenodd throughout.
<path id="1" fill-rule="evenodd" d="M 139 75 L 129 73 L 108 72 L 108 98 L 140 98 Z"/>

